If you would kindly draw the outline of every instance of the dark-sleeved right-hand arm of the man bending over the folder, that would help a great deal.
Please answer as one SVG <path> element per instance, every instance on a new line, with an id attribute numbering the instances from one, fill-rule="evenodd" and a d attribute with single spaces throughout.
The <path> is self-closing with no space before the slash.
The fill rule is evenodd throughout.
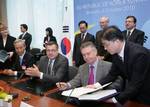
<path id="1" fill-rule="evenodd" d="M 131 80 L 125 90 L 116 97 L 117 101 L 125 103 L 138 95 L 138 91 L 142 87 L 148 72 L 148 63 L 146 55 L 138 55 L 135 58 L 132 71 L 130 71 L 132 72 Z"/>

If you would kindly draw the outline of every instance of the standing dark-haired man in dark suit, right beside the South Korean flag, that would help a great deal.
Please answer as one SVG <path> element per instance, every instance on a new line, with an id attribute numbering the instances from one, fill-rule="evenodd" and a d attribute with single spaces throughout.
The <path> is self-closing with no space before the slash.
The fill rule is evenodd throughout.
<path id="1" fill-rule="evenodd" d="M 76 67 L 79 67 L 80 65 L 85 63 L 80 51 L 81 44 L 87 41 L 91 41 L 93 43 L 95 42 L 94 36 L 87 32 L 88 23 L 86 21 L 80 21 L 78 26 L 80 28 L 81 33 L 75 35 L 73 48 L 73 63 Z"/>

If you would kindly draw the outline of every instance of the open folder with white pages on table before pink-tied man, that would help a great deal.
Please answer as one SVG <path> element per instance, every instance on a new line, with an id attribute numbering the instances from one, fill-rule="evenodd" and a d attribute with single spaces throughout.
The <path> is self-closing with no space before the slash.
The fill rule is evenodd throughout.
<path id="1" fill-rule="evenodd" d="M 75 97 L 79 100 L 104 100 L 110 97 L 113 97 L 117 94 L 115 89 L 111 90 L 102 90 L 104 87 L 110 85 L 111 83 L 107 83 L 103 86 L 100 86 L 96 89 L 87 88 L 87 87 L 78 87 L 74 89 L 70 89 L 67 91 L 63 91 L 63 96 Z"/>

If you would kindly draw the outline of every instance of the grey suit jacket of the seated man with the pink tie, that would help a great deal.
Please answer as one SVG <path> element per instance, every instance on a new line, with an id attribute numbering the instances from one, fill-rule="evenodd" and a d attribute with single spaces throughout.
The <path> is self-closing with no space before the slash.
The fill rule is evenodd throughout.
<path id="1" fill-rule="evenodd" d="M 110 62 L 98 60 L 97 71 L 96 71 L 96 82 L 102 80 L 109 73 L 111 66 L 112 64 Z M 89 65 L 85 63 L 79 67 L 78 74 L 74 77 L 74 79 L 72 79 L 69 82 L 71 88 L 88 85 L 88 78 L 89 78 Z M 117 88 L 119 90 L 122 88 L 123 85 L 122 82 L 123 82 L 122 79 L 118 78 L 108 88 Z"/>

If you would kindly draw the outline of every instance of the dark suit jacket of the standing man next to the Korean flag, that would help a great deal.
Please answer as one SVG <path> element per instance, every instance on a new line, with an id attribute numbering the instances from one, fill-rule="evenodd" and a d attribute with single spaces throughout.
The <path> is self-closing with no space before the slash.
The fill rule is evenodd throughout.
<path id="1" fill-rule="evenodd" d="M 75 65 L 77 67 L 85 63 L 80 51 L 80 46 L 83 42 L 87 42 L 87 41 L 91 41 L 95 43 L 94 36 L 90 33 L 87 33 L 83 41 L 81 41 L 81 33 L 75 36 L 74 48 L 73 48 L 73 61 L 75 61 Z"/>

